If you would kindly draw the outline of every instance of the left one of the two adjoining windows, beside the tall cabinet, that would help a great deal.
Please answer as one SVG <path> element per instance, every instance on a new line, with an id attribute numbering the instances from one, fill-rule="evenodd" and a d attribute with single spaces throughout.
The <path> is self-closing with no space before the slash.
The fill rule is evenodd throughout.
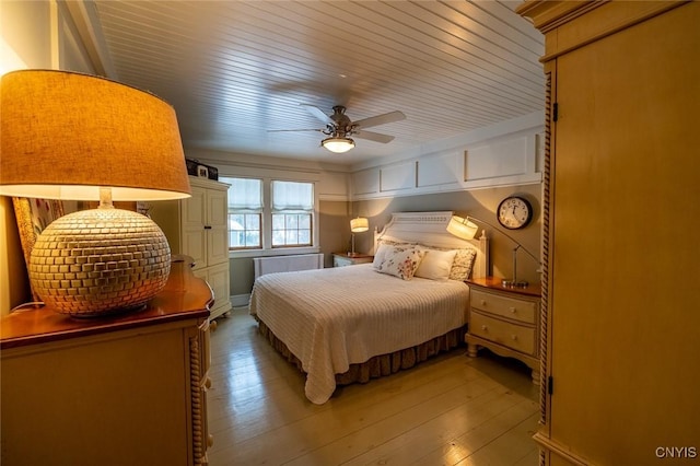
<path id="1" fill-rule="evenodd" d="M 262 180 L 225 178 L 229 183 L 229 248 L 262 247 Z"/>

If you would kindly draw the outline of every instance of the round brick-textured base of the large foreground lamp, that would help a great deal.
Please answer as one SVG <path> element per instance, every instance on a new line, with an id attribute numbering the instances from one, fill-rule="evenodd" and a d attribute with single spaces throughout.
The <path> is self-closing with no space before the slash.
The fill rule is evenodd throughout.
<path id="1" fill-rule="evenodd" d="M 148 217 L 100 208 L 63 215 L 37 238 L 33 290 L 60 314 L 98 317 L 142 307 L 171 271 L 171 248 Z"/>

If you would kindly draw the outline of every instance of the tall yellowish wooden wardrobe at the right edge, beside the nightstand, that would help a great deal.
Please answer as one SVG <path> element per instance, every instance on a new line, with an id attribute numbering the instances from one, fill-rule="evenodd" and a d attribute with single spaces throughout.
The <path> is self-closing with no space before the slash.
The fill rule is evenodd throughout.
<path id="1" fill-rule="evenodd" d="M 546 37 L 544 464 L 700 459 L 700 2 L 527 1 Z"/>

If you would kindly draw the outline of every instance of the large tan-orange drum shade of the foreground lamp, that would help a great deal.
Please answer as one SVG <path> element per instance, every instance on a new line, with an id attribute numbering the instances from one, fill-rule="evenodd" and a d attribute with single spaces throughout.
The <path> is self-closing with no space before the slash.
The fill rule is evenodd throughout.
<path id="1" fill-rule="evenodd" d="M 45 199 L 188 197 L 175 110 L 107 79 L 56 70 L 7 73 L 0 84 L 0 194 Z"/>

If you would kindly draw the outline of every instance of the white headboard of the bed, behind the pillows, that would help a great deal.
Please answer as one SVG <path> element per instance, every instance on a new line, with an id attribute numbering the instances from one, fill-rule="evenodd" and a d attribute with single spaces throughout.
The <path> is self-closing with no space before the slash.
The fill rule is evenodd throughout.
<path id="1" fill-rule="evenodd" d="M 472 278 L 489 275 L 489 238 L 486 234 L 471 241 L 460 240 L 447 232 L 452 211 L 440 212 L 396 212 L 381 232 L 374 232 L 374 251 L 380 238 L 406 243 L 420 243 L 425 246 L 477 249 L 471 269 Z"/>

